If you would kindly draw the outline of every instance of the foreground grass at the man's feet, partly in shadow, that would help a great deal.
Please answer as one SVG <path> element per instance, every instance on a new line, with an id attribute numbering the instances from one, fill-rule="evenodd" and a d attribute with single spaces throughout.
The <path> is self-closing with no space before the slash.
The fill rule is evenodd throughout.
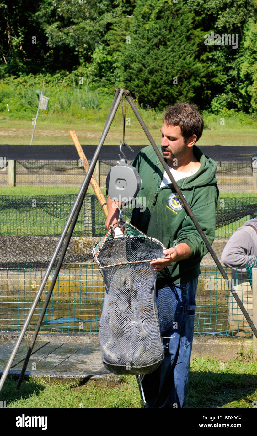
<path id="1" fill-rule="evenodd" d="M 187 408 L 252 408 L 257 401 L 257 362 L 240 358 L 228 361 L 225 369 L 213 358 L 191 361 Z M 17 408 L 141 408 L 143 407 L 134 376 L 120 376 L 120 384 L 97 387 L 93 381 L 48 385 L 45 381 L 7 379 L 0 401 Z"/>

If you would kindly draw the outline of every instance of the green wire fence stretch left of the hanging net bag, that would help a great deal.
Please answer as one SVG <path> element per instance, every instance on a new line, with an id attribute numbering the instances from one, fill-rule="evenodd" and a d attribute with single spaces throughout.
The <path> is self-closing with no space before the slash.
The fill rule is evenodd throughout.
<path id="1" fill-rule="evenodd" d="M 2 265 L 1 265 L 2 267 Z M 45 275 L 41 264 L 18 264 L 1 268 L 1 327 L 2 331 L 21 330 L 37 289 Z M 28 327 L 33 331 L 44 304 L 53 276 L 50 273 L 41 300 Z M 103 278 L 94 265 L 63 264 L 58 275 L 41 331 L 96 332 L 102 311 Z"/>

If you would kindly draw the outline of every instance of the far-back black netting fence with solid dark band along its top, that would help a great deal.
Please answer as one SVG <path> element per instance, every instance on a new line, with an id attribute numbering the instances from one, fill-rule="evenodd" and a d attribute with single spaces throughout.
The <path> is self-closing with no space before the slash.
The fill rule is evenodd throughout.
<path id="1" fill-rule="evenodd" d="M 134 153 L 126 149 L 128 163 L 143 146 L 133 146 Z M 90 160 L 96 146 L 82 146 Z M 253 189 L 252 160 L 257 155 L 254 147 L 199 146 L 200 150 L 217 163 L 216 177 L 220 190 Z M 103 146 L 97 171 L 101 187 L 106 176 L 117 164 L 118 146 Z M 7 159 L 7 167 L 0 171 L 0 186 L 8 186 L 8 160 L 17 161 L 17 186 L 81 186 L 85 171 L 74 146 L 1 146 L 1 154 Z M 96 171 L 95 171 L 96 175 Z"/>

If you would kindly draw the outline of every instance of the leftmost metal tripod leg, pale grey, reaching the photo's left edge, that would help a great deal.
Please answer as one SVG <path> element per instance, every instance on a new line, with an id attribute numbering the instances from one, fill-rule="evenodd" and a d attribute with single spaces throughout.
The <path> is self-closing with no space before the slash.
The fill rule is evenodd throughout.
<path id="1" fill-rule="evenodd" d="M 117 89 L 116 94 L 115 94 L 115 97 L 114 97 L 114 99 L 113 99 L 113 104 L 112 104 L 112 106 L 111 106 L 111 109 L 110 109 L 110 112 L 109 112 L 108 118 L 107 118 L 107 120 L 106 120 L 106 123 L 105 123 L 104 129 L 103 129 L 103 133 L 102 133 L 101 138 L 100 138 L 100 141 L 99 141 L 99 144 L 98 144 L 98 146 L 97 146 L 97 148 L 96 148 L 96 151 L 95 151 L 95 154 L 94 154 L 94 156 L 93 156 L 93 159 L 92 159 L 92 161 L 91 161 L 91 163 L 90 163 L 90 165 L 89 165 L 88 172 L 86 173 L 85 179 L 84 179 L 84 181 L 83 181 L 83 183 L 82 183 L 82 186 L 81 186 L 81 188 L 80 188 L 80 190 L 79 190 L 79 194 L 77 195 L 77 198 L 76 198 L 76 200 L 75 200 L 75 203 L 74 203 L 74 205 L 73 205 L 73 207 L 72 207 L 72 211 L 70 212 L 70 215 L 69 215 L 69 217 L 68 217 L 68 220 L 67 220 L 67 222 L 66 222 L 66 224 L 65 224 L 65 228 L 64 228 L 63 231 L 62 231 L 62 235 L 60 236 L 60 239 L 59 239 L 59 241 L 58 241 L 58 244 L 56 245 L 56 248 L 55 248 L 54 254 L 53 254 L 53 256 L 52 256 L 52 258 L 51 258 L 51 261 L 50 261 L 50 263 L 49 263 L 49 265 L 48 265 L 48 268 L 47 268 L 47 270 L 46 270 L 46 272 L 45 272 L 45 276 L 44 276 L 44 278 L 43 278 L 43 280 L 42 280 L 42 282 L 41 282 L 41 285 L 40 285 L 40 287 L 39 287 L 39 289 L 38 289 L 38 292 L 37 292 L 37 294 L 36 294 L 36 296 L 35 296 L 34 302 L 33 302 L 32 306 L 31 306 L 31 309 L 30 309 L 30 311 L 29 311 L 29 313 L 28 313 L 28 315 L 27 315 L 27 318 L 26 318 L 26 320 L 25 320 L 25 323 L 24 323 L 24 325 L 23 325 L 23 327 L 22 327 L 22 329 L 21 329 L 21 333 L 20 333 L 20 335 L 19 335 L 19 337 L 18 337 L 17 343 L 16 343 L 16 345 L 15 345 L 15 347 L 14 347 L 14 350 L 12 351 L 12 353 L 11 353 L 11 355 L 10 355 L 9 361 L 7 362 L 7 365 L 6 365 L 6 367 L 5 367 L 4 371 L 3 371 L 2 377 L 1 377 L 1 379 L 0 379 L 0 391 L 1 391 L 2 387 L 3 387 L 3 383 L 4 383 L 4 381 L 5 381 L 6 378 L 7 378 L 8 372 L 10 371 L 10 367 L 11 367 L 13 361 L 14 361 L 14 358 L 15 358 L 15 356 L 16 356 L 16 354 L 17 354 L 17 351 L 18 351 L 18 349 L 19 349 L 19 347 L 20 347 L 20 345 L 21 345 L 21 341 L 22 341 L 22 339 L 23 339 L 23 337 L 24 337 L 24 334 L 25 334 L 25 332 L 26 332 L 26 330 L 27 330 L 28 324 L 30 323 L 30 320 L 31 320 L 31 317 L 32 317 L 32 315 L 33 315 L 33 313 L 34 313 L 34 310 L 35 310 L 35 308 L 36 308 L 36 306 L 37 306 L 37 304 L 38 304 L 38 300 L 39 300 L 39 298 L 40 298 L 40 296 L 41 296 L 41 293 L 43 292 L 43 290 L 44 290 L 44 288 L 45 288 L 45 284 L 46 284 L 46 282 L 47 282 L 47 279 L 48 279 L 48 276 L 49 276 L 49 274 L 50 274 L 50 272 L 51 272 L 51 269 L 52 269 L 52 267 L 53 267 L 53 265 L 54 265 L 54 263 L 55 263 L 55 259 L 57 258 L 58 252 L 60 251 L 60 248 L 61 248 L 62 242 L 64 241 L 65 235 L 67 234 L 68 229 L 69 229 L 69 226 L 70 226 L 71 223 L 72 223 L 72 218 L 74 217 L 75 212 L 76 212 L 76 209 L 79 207 L 79 205 L 80 205 L 80 208 L 81 208 L 81 206 L 82 206 L 83 200 L 84 200 L 85 195 L 86 195 L 86 191 L 87 191 L 87 189 L 88 189 L 88 186 L 89 186 L 89 183 L 90 183 L 91 177 L 92 177 L 92 175 L 93 175 L 94 168 L 95 168 L 95 166 L 96 166 L 96 161 L 98 160 L 98 157 L 99 157 L 99 154 L 100 154 L 101 148 L 102 148 L 102 146 L 103 146 L 103 143 L 104 143 L 104 141 L 105 141 L 105 138 L 106 138 L 106 136 L 107 136 L 107 133 L 108 133 L 108 131 L 109 131 L 109 129 L 110 129 L 110 126 L 111 126 L 111 123 L 112 123 L 112 121 L 113 121 L 113 118 L 114 118 L 114 116 L 115 116 L 115 114 L 116 114 L 116 112 L 117 112 L 118 106 L 119 106 L 119 104 L 120 104 L 120 100 L 121 100 L 121 98 L 122 98 L 122 94 L 123 94 L 123 89 Z M 79 210 L 80 210 L 80 209 L 79 209 Z M 78 211 L 78 212 L 79 212 L 79 211 Z M 74 223 L 74 225 L 75 225 L 75 223 Z M 74 228 L 74 227 L 73 227 L 73 228 Z M 70 235 L 70 236 L 71 236 L 71 235 Z M 65 242 L 65 244 L 66 244 L 66 242 Z M 68 238 L 67 238 L 67 246 L 66 246 L 66 249 L 67 249 L 67 247 L 68 247 L 68 244 L 69 244 L 69 240 L 68 240 Z M 62 255 L 63 255 L 63 257 L 64 257 L 64 255 L 65 255 L 66 249 L 63 249 L 63 250 L 62 250 Z M 63 257 L 62 257 L 62 261 L 63 261 Z M 58 262 L 59 270 L 60 270 L 61 265 L 62 265 L 62 262 L 61 262 L 61 264 L 60 264 L 60 261 L 61 261 L 61 257 L 60 257 L 60 260 L 59 260 L 59 262 Z M 56 268 L 56 270 L 57 270 L 57 268 Z M 59 271 L 57 271 L 56 275 L 54 276 L 54 277 L 55 277 L 55 281 L 56 281 L 56 279 L 57 279 L 58 272 L 59 272 Z M 54 280 L 54 279 L 53 279 L 53 280 Z M 52 283 L 53 283 L 53 281 L 52 281 Z M 51 283 L 51 284 L 52 284 L 52 283 Z M 55 283 L 53 283 L 52 288 L 54 287 L 54 285 L 55 285 Z M 46 309 L 46 308 L 45 308 L 45 309 Z M 39 327 L 40 327 L 40 326 L 39 326 Z M 35 337 L 33 337 L 33 340 L 35 340 L 35 339 L 36 339 L 36 335 L 35 335 Z M 32 351 L 32 348 L 30 347 L 28 353 L 30 352 L 30 354 L 31 354 L 31 351 Z M 27 365 L 26 365 L 26 366 L 27 366 Z M 23 369 L 24 369 L 24 368 L 23 368 Z M 26 369 L 26 368 L 25 368 L 25 369 Z"/>

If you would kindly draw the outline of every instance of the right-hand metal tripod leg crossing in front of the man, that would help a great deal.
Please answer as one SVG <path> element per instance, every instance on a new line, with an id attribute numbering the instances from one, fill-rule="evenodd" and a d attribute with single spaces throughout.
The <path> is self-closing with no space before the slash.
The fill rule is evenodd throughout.
<path id="1" fill-rule="evenodd" d="M 234 290 L 234 288 L 233 288 L 233 286 L 232 286 L 232 283 L 231 283 L 230 279 L 229 279 L 228 276 L 226 275 L 226 272 L 225 272 L 223 266 L 222 266 L 221 263 L 219 262 L 219 259 L 217 258 L 215 252 L 214 252 L 213 249 L 212 249 L 212 246 L 210 245 L 208 239 L 206 238 L 206 235 L 205 235 L 204 232 L 202 231 L 202 228 L 200 227 L 200 225 L 199 225 L 197 219 L 195 218 L 195 215 L 193 214 L 193 212 L 192 212 L 191 208 L 189 207 L 187 201 L 186 201 L 185 198 L 183 197 L 183 194 L 182 194 L 182 192 L 180 191 L 180 189 L 179 189 L 179 187 L 178 187 L 178 184 L 175 182 L 174 177 L 172 176 L 172 174 L 171 174 L 171 172 L 170 172 L 170 170 L 169 170 L 169 168 L 168 168 L 168 166 L 167 166 L 167 164 L 166 164 L 166 162 L 165 162 L 163 156 L 161 155 L 160 150 L 158 149 L 156 143 L 154 142 L 154 140 L 153 140 L 153 138 L 152 138 L 152 136 L 151 136 L 151 133 L 150 133 L 149 130 L 147 129 L 147 126 L 145 125 L 145 123 L 144 123 L 142 117 L 140 116 L 140 113 L 138 112 L 136 106 L 134 105 L 134 102 L 133 102 L 132 98 L 130 97 L 129 93 L 130 93 L 129 91 L 124 91 L 124 95 L 125 95 L 126 99 L 128 100 L 128 102 L 129 102 L 129 104 L 130 104 L 130 106 L 131 106 L 131 109 L 133 110 L 133 112 L 134 112 L 135 116 L 137 117 L 137 119 L 138 119 L 138 121 L 139 121 L 139 123 L 140 123 L 142 129 L 144 130 L 144 133 L 146 134 L 148 140 L 150 141 L 151 146 L 153 147 L 155 153 L 157 154 L 159 160 L 161 161 L 161 164 L 162 164 L 162 166 L 164 167 L 164 170 L 165 170 L 166 173 L 168 174 L 168 177 L 169 177 L 171 183 L 172 183 L 173 186 L 175 187 L 175 190 L 176 190 L 176 192 L 178 193 L 180 200 L 181 200 L 182 203 L 184 204 L 184 206 L 185 206 L 185 210 L 187 211 L 188 215 L 189 215 L 190 218 L 192 219 L 192 221 L 193 221 L 193 223 L 194 223 L 194 225 L 195 225 L 195 227 L 196 227 L 196 229 L 197 229 L 199 235 L 202 237 L 203 242 L 205 243 L 205 245 L 206 245 L 206 247 L 207 247 L 207 249 L 208 249 L 210 255 L 212 256 L 212 259 L 213 259 L 214 262 L 216 263 L 217 267 L 219 268 L 219 271 L 221 272 L 223 278 L 225 279 L 225 281 L 226 281 L 226 283 L 227 283 L 227 285 L 228 285 L 228 287 L 229 287 L 229 289 L 230 289 L 232 295 L 234 296 L 234 298 L 235 298 L 235 300 L 236 300 L 236 303 L 238 304 L 238 306 L 239 306 L 240 309 L 242 310 L 243 315 L 244 315 L 245 319 L 247 320 L 247 322 L 248 322 L 250 328 L 252 329 L 254 335 L 257 337 L 257 329 L 256 329 L 256 327 L 254 326 L 253 321 L 252 321 L 251 318 L 249 317 L 249 315 L 248 315 L 248 313 L 247 313 L 247 310 L 246 310 L 245 307 L 243 306 L 242 301 L 240 300 L 239 296 L 237 295 L 236 291 Z"/>

